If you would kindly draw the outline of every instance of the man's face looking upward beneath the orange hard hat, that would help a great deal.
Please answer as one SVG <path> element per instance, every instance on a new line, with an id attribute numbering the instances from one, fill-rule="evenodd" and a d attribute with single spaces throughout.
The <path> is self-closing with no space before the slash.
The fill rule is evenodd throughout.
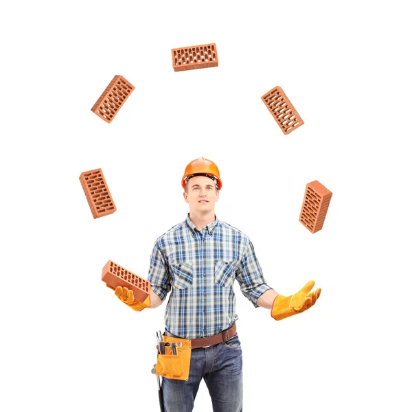
<path id="1" fill-rule="evenodd" d="M 187 192 L 184 193 L 185 202 L 190 205 L 190 211 L 214 211 L 214 204 L 218 201 L 216 185 L 209 177 L 195 176 L 187 181 Z"/>

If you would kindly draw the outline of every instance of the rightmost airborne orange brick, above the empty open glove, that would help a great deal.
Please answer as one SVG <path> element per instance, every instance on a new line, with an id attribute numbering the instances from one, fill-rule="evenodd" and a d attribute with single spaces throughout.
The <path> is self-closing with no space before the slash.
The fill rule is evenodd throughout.
<path id="1" fill-rule="evenodd" d="M 321 230 L 328 212 L 332 192 L 318 181 L 306 185 L 299 222 L 312 233 Z"/>

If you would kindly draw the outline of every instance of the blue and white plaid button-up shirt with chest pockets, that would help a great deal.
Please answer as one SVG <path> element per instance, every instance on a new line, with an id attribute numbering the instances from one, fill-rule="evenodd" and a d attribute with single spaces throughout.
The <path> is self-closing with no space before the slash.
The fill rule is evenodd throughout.
<path id="1" fill-rule="evenodd" d="M 251 240 L 217 218 L 199 231 L 188 214 L 154 244 L 148 281 L 161 300 L 171 290 L 164 320 L 176 336 L 203 338 L 229 328 L 238 319 L 234 279 L 255 307 L 271 289 Z"/>

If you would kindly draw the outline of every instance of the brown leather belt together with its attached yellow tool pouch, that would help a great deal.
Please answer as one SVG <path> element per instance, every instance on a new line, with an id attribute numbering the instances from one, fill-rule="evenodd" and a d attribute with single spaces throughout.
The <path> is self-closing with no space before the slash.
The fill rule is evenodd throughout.
<path id="1" fill-rule="evenodd" d="M 168 379 L 188 380 L 190 376 L 191 350 L 199 347 L 227 342 L 237 332 L 236 324 L 231 328 L 208 338 L 182 339 L 165 331 L 163 334 L 164 354 L 157 356 L 154 367 L 158 376 Z M 176 354 L 173 354 L 173 353 Z"/>

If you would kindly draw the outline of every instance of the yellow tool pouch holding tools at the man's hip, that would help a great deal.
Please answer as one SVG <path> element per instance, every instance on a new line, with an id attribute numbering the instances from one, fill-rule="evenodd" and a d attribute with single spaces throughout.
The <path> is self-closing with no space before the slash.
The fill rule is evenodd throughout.
<path id="1" fill-rule="evenodd" d="M 157 356 L 157 376 L 168 379 L 188 380 L 191 363 L 191 340 L 164 336 L 164 352 Z M 168 345 L 165 345 L 168 343 Z M 172 343 L 176 344 L 176 355 L 173 354 Z"/>

